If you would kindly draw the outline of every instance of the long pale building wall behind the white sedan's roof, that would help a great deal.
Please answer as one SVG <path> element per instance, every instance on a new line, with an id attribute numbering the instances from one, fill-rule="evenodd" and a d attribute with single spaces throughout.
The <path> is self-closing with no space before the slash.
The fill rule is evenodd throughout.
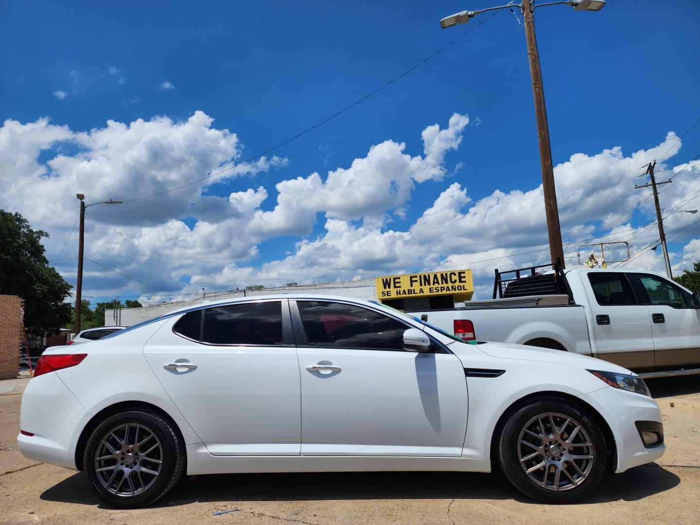
<path id="1" fill-rule="evenodd" d="M 279 286 L 278 288 L 265 288 L 263 290 L 248 290 L 246 297 L 255 295 L 270 294 L 292 294 L 292 293 L 328 293 L 332 295 L 342 295 L 344 297 L 357 297 L 358 299 L 374 300 L 377 298 L 377 287 L 374 286 L 374 279 L 362 279 L 360 281 L 339 281 L 335 283 L 305 284 L 302 286 Z M 169 311 L 188 307 L 190 305 L 202 304 L 204 301 L 214 301 L 220 299 L 234 299 L 243 297 L 243 290 L 229 292 L 206 292 L 195 296 L 193 300 L 168 302 L 165 304 L 153 304 L 142 308 L 123 308 L 118 310 L 104 311 L 105 326 L 131 326 L 141 321 L 148 321 L 154 317 L 167 314 Z"/>

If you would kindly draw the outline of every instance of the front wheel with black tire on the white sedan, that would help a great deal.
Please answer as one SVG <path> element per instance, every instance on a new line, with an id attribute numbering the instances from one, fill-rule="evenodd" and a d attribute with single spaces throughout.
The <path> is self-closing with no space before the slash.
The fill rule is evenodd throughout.
<path id="1" fill-rule="evenodd" d="M 547 417 L 538 419 L 542 414 Z M 575 426 L 580 429 L 574 431 Z M 570 503 L 590 496 L 605 474 L 607 456 L 605 437 L 591 414 L 556 397 L 538 398 L 515 410 L 505 421 L 498 443 L 498 463 L 505 477 L 542 503 Z M 528 474 L 526 468 L 535 470 Z"/>

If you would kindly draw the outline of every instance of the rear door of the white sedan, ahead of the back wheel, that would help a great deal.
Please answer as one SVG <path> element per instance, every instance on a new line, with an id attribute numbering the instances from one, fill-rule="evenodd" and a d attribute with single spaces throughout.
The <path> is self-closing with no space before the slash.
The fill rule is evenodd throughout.
<path id="1" fill-rule="evenodd" d="M 286 301 L 282 305 L 288 308 Z M 281 344 L 272 323 L 251 328 L 246 319 L 225 314 L 219 319 L 235 323 L 245 340 L 267 346 L 202 344 L 176 335 L 174 318 L 148 341 L 146 360 L 211 454 L 298 455 L 301 391 L 295 347 Z M 182 331 L 198 339 L 196 325 L 196 320 L 183 323 Z M 206 332 L 206 324 L 204 328 Z M 223 328 L 219 323 L 209 337 L 222 341 Z M 164 368 L 186 362 L 196 368 Z"/>

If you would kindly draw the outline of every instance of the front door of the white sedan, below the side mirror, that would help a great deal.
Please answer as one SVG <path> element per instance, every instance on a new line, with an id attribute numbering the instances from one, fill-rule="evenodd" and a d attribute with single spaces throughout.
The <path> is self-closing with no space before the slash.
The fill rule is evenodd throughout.
<path id="1" fill-rule="evenodd" d="M 302 455 L 461 456 L 468 402 L 456 356 L 404 351 L 397 334 L 409 326 L 371 310 L 319 313 L 315 302 L 304 318 L 297 304 L 308 335 L 297 348 Z"/>

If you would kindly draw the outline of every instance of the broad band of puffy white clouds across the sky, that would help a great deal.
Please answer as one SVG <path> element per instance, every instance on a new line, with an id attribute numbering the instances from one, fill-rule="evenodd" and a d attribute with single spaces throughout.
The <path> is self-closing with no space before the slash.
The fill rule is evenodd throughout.
<path id="1" fill-rule="evenodd" d="M 416 185 L 444 179 L 445 156 L 460 146 L 467 123 L 466 116 L 455 114 L 444 128 L 426 127 L 421 134 L 422 156 L 412 156 L 404 143 L 386 140 L 325 175 L 285 179 L 274 188 L 255 183 L 220 197 L 207 194 L 207 188 L 218 181 L 286 166 L 286 158 L 260 158 L 236 166 L 241 155 L 237 134 L 216 129 L 213 119 L 201 111 L 181 122 L 167 117 L 128 124 L 110 120 L 90 132 L 73 132 L 47 119 L 27 124 L 6 120 L 0 127 L 0 183 L 6 188 L 0 194 L 0 207 L 13 210 L 20 203 L 18 211 L 34 228 L 50 231 L 52 238 L 45 244 L 51 257 L 57 255 L 75 222 L 76 193 L 85 193 L 90 202 L 128 201 L 228 169 L 153 199 L 91 207 L 86 221 L 87 255 L 126 255 L 96 260 L 183 292 L 468 265 L 475 269 L 479 293 L 486 295 L 494 267 L 547 260 L 541 185 L 496 189 L 475 199 L 468 188 L 480 174 L 462 169 L 461 183 L 444 183 L 442 193 L 412 225 L 388 228 L 391 221 L 406 216 Z M 606 239 L 629 240 L 633 253 L 657 239 L 653 227 L 629 231 L 631 214 L 624 212 L 636 210 L 634 224 L 648 221 L 653 226 L 654 210 L 645 200 L 647 193 L 632 186 L 638 182 L 641 166 L 664 158 L 669 149 L 669 155 L 678 152 L 677 142 L 678 137 L 669 133 L 647 151 L 624 155 L 620 148 L 610 148 L 594 155 L 576 153 L 555 167 L 570 265 L 587 237 L 607 234 Z M 65 148 L 66 143 L 71 147 Z M 47 157 L 48 162 L 39 161 Z M 673 168 L 664 161 L 657 164 L 659 176 L 684 168 L 660 194 L 669 211 L 674 205 L 699 207 L 697 200 L 691 205 L 692 196 L 700 195 L 700 178 L 694 175 L 700 172 L 700 162 Z M 537 180 L 538 174 L 531 174 L 531 179 Z M 605 209 L 613 200 L 614 205 Z M 36 206 L 36 202 L 52 206 Z M 323 233 L 302 237 L 310 234 L 319 214 L 323 214 Z M 686 226 L 683 236 L 700 236 L 700 228 L 690 225 L 689 218 L 693 216 L 668 216 L 670 239 L 682 238 L 674 232 Z M 286 235 L 300 237 L 294 249 L 279 260 L 261 263 L 259 246 Z M 74 256 L 75 241 L 71 239 L 63 257 Z M 699 252 L 700 245 L 692 241 L 682 253 L 673 253 L 674 271 L 691 266 L 694 257 L 700 258 Z M 164 253 L 176 255 L 163 257 Z M 631 265 L 663 269 L 659 253 L 652 251 Z M 58 265 L 67 279 L 75 278 L 74 266 L 74 260 Z M 85 295 L 124 293 L 123 277 L 90 262 L 85 272 L 90 286 Z M 132 290 L 159 293 L 128 284 Z"/>

